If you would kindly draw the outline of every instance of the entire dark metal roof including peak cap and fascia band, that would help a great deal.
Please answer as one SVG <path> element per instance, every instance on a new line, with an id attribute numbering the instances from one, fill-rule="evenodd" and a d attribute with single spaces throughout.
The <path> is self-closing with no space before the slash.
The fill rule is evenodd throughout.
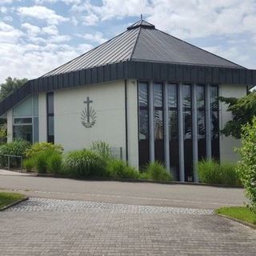
<path id="1" fill-rule="evenodd" d="M 256 85 L 256 70 L 140 21 L 78 58 L 30 80 L 0 102 L 0 116 L 31 94 L 122 79 Z"/>

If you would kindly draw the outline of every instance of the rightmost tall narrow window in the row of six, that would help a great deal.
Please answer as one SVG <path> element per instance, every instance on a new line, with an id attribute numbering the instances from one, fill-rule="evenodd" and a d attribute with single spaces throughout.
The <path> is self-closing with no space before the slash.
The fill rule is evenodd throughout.
<path id="1" fill-rule="evenodd" d="M 211 154 L 219 160 L 218 86 L 210 86 Z"/>

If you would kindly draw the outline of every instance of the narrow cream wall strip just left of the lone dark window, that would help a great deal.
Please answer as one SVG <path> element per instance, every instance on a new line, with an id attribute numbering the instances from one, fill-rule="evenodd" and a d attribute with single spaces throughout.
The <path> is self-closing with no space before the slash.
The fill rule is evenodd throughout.
<path id="1" fill-rule="evenodd" d="M 38 94 L 39 142 L 47 141 L 46 93 Z"/>

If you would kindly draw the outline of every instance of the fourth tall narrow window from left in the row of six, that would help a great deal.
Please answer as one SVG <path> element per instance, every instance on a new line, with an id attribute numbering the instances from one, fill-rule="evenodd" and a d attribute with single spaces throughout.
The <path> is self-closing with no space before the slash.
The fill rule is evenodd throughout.
<path id="1" fill-rule="evenodd" d="M 184 166 L 186 182 L 193 182 L 191 86 L 183 85 Z"/>

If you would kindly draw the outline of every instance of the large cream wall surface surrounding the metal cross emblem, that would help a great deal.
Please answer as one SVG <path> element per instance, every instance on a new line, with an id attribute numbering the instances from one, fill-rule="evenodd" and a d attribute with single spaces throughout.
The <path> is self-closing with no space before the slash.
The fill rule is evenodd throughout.
<path id="1" fill-rule="evenodd" d="M 96 111 L 96 122 L 86 128 L 81 123 L 84 101 Z M 94 141 L 105 141 L 122 147 L 126 158 L 124 81 L 83 86 L 54 92 L 54 140 L 66 151 L 89 147 Z"/>

